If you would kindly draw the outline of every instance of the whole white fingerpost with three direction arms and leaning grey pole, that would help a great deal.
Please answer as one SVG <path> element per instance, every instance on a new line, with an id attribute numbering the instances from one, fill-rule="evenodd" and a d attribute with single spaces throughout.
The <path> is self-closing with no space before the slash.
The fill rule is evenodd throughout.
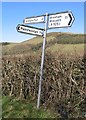
<path id="1" fill-rule="evenodd" d="M 74 20 L 75 20 L 75 18 L 73 16 L 72 12 L 66 11 L 66 12 L 60 12 L 60 13 L 54 13 L 54 14 L 46 13 L 45 15 L 41 15 L 41 16 L 27 17 L 23 21 L 24 24 L 17 25 L 16 29 L 20 33 L 37 35 L 37 36 L 43 37 L 37 109 L 39 109 L 39 106 L 40 106 L 41 86 L 42 86 L 42 76 L 43 76 L 43 64 L 44 64 L 44 52 L 45 52 L 47 30 L 52 29 L 52 28 L 71 27 Z M 25 24 L 36 24 L 36 23 L 45 23 L 44 29 L 25 25 Z"/>

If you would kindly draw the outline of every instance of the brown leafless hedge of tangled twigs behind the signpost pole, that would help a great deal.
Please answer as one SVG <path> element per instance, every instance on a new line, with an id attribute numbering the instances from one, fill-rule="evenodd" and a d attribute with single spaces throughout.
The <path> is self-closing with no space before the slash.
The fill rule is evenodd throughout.
<path id="1" fill-rule="evenodd" d="M 85 58 L 46 53 L 41 105 L 62 117 L 84 117 L 86 107 Z M 41 56 L 4 56 L 2 58 L 2 93 L 37 100 Z M 83 112 L 81 112 L 81 110 Z M 64 114 L 65 113 L 65 114 Z"/>

